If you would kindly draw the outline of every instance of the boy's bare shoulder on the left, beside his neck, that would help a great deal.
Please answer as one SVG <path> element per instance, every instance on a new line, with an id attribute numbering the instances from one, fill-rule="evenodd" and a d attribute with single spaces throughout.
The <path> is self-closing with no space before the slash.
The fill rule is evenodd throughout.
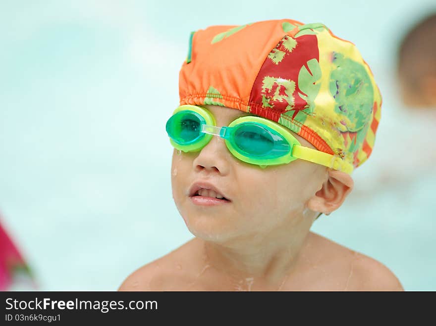
<path id="1" fill-rule="evenodd" d="M 164 288 L 179 288 L 179 284 L 186 284 L 192 279 L 192 254 L 195 249 L 194 238 L 138 268 L 122 282 L 118 291 L 162 291 Z M 183 288 L 180 287 L 180 290 Z"/>

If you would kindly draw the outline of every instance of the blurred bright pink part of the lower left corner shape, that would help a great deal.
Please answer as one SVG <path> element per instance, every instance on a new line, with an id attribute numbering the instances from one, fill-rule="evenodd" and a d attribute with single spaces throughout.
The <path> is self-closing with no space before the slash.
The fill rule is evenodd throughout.
<path id="1" fill-rule="evenodd" d="M 0 224 L 0 291 L 9 290 L 18 274 L 31 278 L 29 267 Z"/>

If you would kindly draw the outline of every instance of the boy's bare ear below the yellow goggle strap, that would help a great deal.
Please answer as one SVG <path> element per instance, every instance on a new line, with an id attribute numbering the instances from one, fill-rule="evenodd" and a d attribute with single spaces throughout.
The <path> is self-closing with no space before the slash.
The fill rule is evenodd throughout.
<path id="1" fill-rule="evenodd" d="M 327 180 L 307 202 L 309 209 L 324 214 L 330 214 L 339 208 L 354 186 L 349 174 L 332 169 L 327 169 L 327 172 Z"/>

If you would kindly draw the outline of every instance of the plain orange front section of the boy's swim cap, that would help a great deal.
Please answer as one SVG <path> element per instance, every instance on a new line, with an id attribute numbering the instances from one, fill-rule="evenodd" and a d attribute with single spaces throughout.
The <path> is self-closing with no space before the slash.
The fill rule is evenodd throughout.
<path id="1" fill-rule="evenodd" d="M 271 49 L 290 33 L 292 25 L 302 25 L 290 19 L 281 22 L 211 26 L 196 31 L 191 61 L 183 63 L 179 74 L 180 105 L 209 103 L 247 112 L 253 83 Z"/>

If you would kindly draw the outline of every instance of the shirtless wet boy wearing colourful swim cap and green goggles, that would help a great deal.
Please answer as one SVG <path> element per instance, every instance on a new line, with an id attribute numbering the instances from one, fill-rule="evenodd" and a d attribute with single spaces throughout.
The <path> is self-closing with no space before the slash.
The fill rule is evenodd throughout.
<path id="1" fill-rule="evenodd" d="M 166 123 L 172 195 L 194 239 L 119 290 L 402 290 L 310 227 L 353 189 L 381 96 L 353 44 L 283 19 L 191 34 Z"/>

